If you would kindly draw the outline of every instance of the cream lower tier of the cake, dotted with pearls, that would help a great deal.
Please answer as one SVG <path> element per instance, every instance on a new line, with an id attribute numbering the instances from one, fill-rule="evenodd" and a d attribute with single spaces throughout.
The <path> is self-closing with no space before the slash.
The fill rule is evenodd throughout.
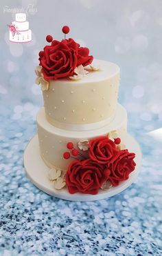
<path id="1" fill-rule="evenodd" d="M 86 141 L 104 135 L 107 136 L 109 132 L 115 130 L 124 144 L 127 133 L 127 113 L 120 104 L 117 106 L 116 115 L 113 121 L 111 121 L 111 124 L 107 124 L 102 128 L 93 129 L 92 127 L 91 130 L 87 131 L 71 131 L 56 128 L 47 121 L 44 108 L 40 108 L 36 121 L 40 155 L 43 161 L 49 168 L 59 168 L 65 171 L 71 163 L 71 158 L 64 159 L 63 157 L 64 152 L 68 151 L 68 142 L 72 142 L 74 148 L 78 148 L 80 141 Z M 82 154 L 86 155 L 86 151 L 82 150 Z"/>

